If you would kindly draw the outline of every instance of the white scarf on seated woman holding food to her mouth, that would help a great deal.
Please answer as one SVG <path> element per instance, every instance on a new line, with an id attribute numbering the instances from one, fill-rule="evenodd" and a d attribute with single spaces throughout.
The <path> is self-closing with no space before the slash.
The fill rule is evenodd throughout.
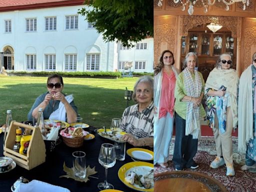
<path id="1" fill-rule="evenodd" d="M 73 94 L 69 94 L 69 95 L 65 96 L 65 99 L 67 100 L 68 103 L 72 102 Z M 66 121 L 66 109 L 65 109 L 64 104 L 61 101 L 58 104 L 57 110 L 54 110 L 50 114 L 49 119 Z"/>

